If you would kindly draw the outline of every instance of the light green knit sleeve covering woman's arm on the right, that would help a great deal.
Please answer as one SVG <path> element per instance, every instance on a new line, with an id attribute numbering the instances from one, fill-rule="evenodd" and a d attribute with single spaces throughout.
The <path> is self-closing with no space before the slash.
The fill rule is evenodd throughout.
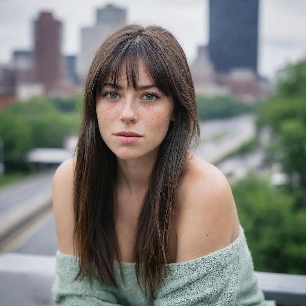
<path id="1" fill-rule="evenodd" d="M 230 246 L 172 266 L 154 306 L 275 306 L 258 287 L 243 229 Z"/>

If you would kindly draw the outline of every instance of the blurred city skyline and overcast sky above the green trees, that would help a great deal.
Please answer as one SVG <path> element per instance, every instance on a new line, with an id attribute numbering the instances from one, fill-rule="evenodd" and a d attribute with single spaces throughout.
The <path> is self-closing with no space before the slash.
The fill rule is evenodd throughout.
<path id="1" fill-rule="evenodd" d="M 305 55 L 306 34 L 297 29 L 306 28 L 306 2 L 250 0 L 247 10 L 242 10 L 240 1 L 234 5 L 224 1 L 214 3 L 209 6 L 209 1 L 181 1 L 181 6 L 174 9 L 173 1 L 152 7 L 139 5 L 139 1 L 128 6 L 124 1 L 117 1 L 116 5 L 105 2 L 104 7 L 101 1 L 66 1 L 60 6 L 56 1 L 2 1 L 0 39 L 6 43 L 0 47 L 0 106 L 15 97 L 27 99 L 46 91 L 61 96 L 76 94 L 80 90 L 76 84 L 84 79 L 99 43 L 111 29 L 131 21 L 162 24 L 177 36 L 187 54 L 198 92 L 206 95 L 233 92 L 246 102 L 261 98 L 273 84 L 277 69 Z M 143 18 L 145 9 L 150 13 Z M 187 19 L 174 21 L 182 9 L 187 9 Z M 80 11 L 81 18 L 77 14 Z M 232 15 L 223 18 L 222 11 Z M 157 16 L 153 17 L 154 14 Z M 248 27 L 239 27 L 244 17 L 248 18 Z M 235 21 L 235 28 L 226 26 L 231 21 Z M 53 36 L 44 36 L 43 27 Z M 244 48 L 228 35 L 229 29 L 237 37 L 246 35 Z M 48 48 L 48 43 L 54 47 Z M 220 45 L 227 46 L 224 50 L 228 53 Z M 52 51 L 48 61 L 39 55 L 46 57 L 47 50 Z M 242 57 L 238 50 L 244 52 Z M 227 75 L 220 75 L 225 70 Z"/>

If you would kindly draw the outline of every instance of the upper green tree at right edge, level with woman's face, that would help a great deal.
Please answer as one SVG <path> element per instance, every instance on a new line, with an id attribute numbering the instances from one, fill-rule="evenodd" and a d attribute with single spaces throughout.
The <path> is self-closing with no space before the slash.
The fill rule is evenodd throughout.
<path id="1" fill-rule="evenodd" d="M 306 207 L 306 59 L 288 64 L 277 80 L 278 93 L 256 107 L 257 125 L 271 128 L 267 149 L 278 154 L 283 172 L 297 175 L 298 183 L 288 188 L 300 194 L 297 206 Z"/>

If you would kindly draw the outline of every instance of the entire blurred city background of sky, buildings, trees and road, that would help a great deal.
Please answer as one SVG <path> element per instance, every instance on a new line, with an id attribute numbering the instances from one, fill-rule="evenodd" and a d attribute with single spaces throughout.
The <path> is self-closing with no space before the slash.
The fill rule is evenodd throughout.
<path id="1" fill-rule="evenodd" d="M 52 179 L 76 145 L 85 77 L 107 35 L 134 22 L 181 43 L 201 127 L 196 155 L 230 182 L 255 271 L 300 277 L 299 297 L 286 279 L 271 299 L 305 305 L 304 0 L 0 1 L 0 278 L 16 281 L 16 261 L 31 273 L 53 260 Z M 0 286 L 1 296 L 12 305 Z"/>

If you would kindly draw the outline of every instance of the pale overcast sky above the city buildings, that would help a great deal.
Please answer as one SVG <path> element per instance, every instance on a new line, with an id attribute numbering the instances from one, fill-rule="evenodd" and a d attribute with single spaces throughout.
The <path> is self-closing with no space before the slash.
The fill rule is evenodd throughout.
<path id="1" fill-rule="evenodd" d="M 95 23 L 95 10 L 113 3 L 128 21 L 159 24 L 181 43 L 189 63 L 197 46 L 208 43 L 208 0 L 0 0 L 0 63 L 13 50 L 30 50 L 33 21 L 42 10 L 63 23 L 62 53 L 80 50 L 80 29 Z M 287 62 L 306 57 L 306 0 L 260 0 L 258 72 L 273 78 Z"/>

